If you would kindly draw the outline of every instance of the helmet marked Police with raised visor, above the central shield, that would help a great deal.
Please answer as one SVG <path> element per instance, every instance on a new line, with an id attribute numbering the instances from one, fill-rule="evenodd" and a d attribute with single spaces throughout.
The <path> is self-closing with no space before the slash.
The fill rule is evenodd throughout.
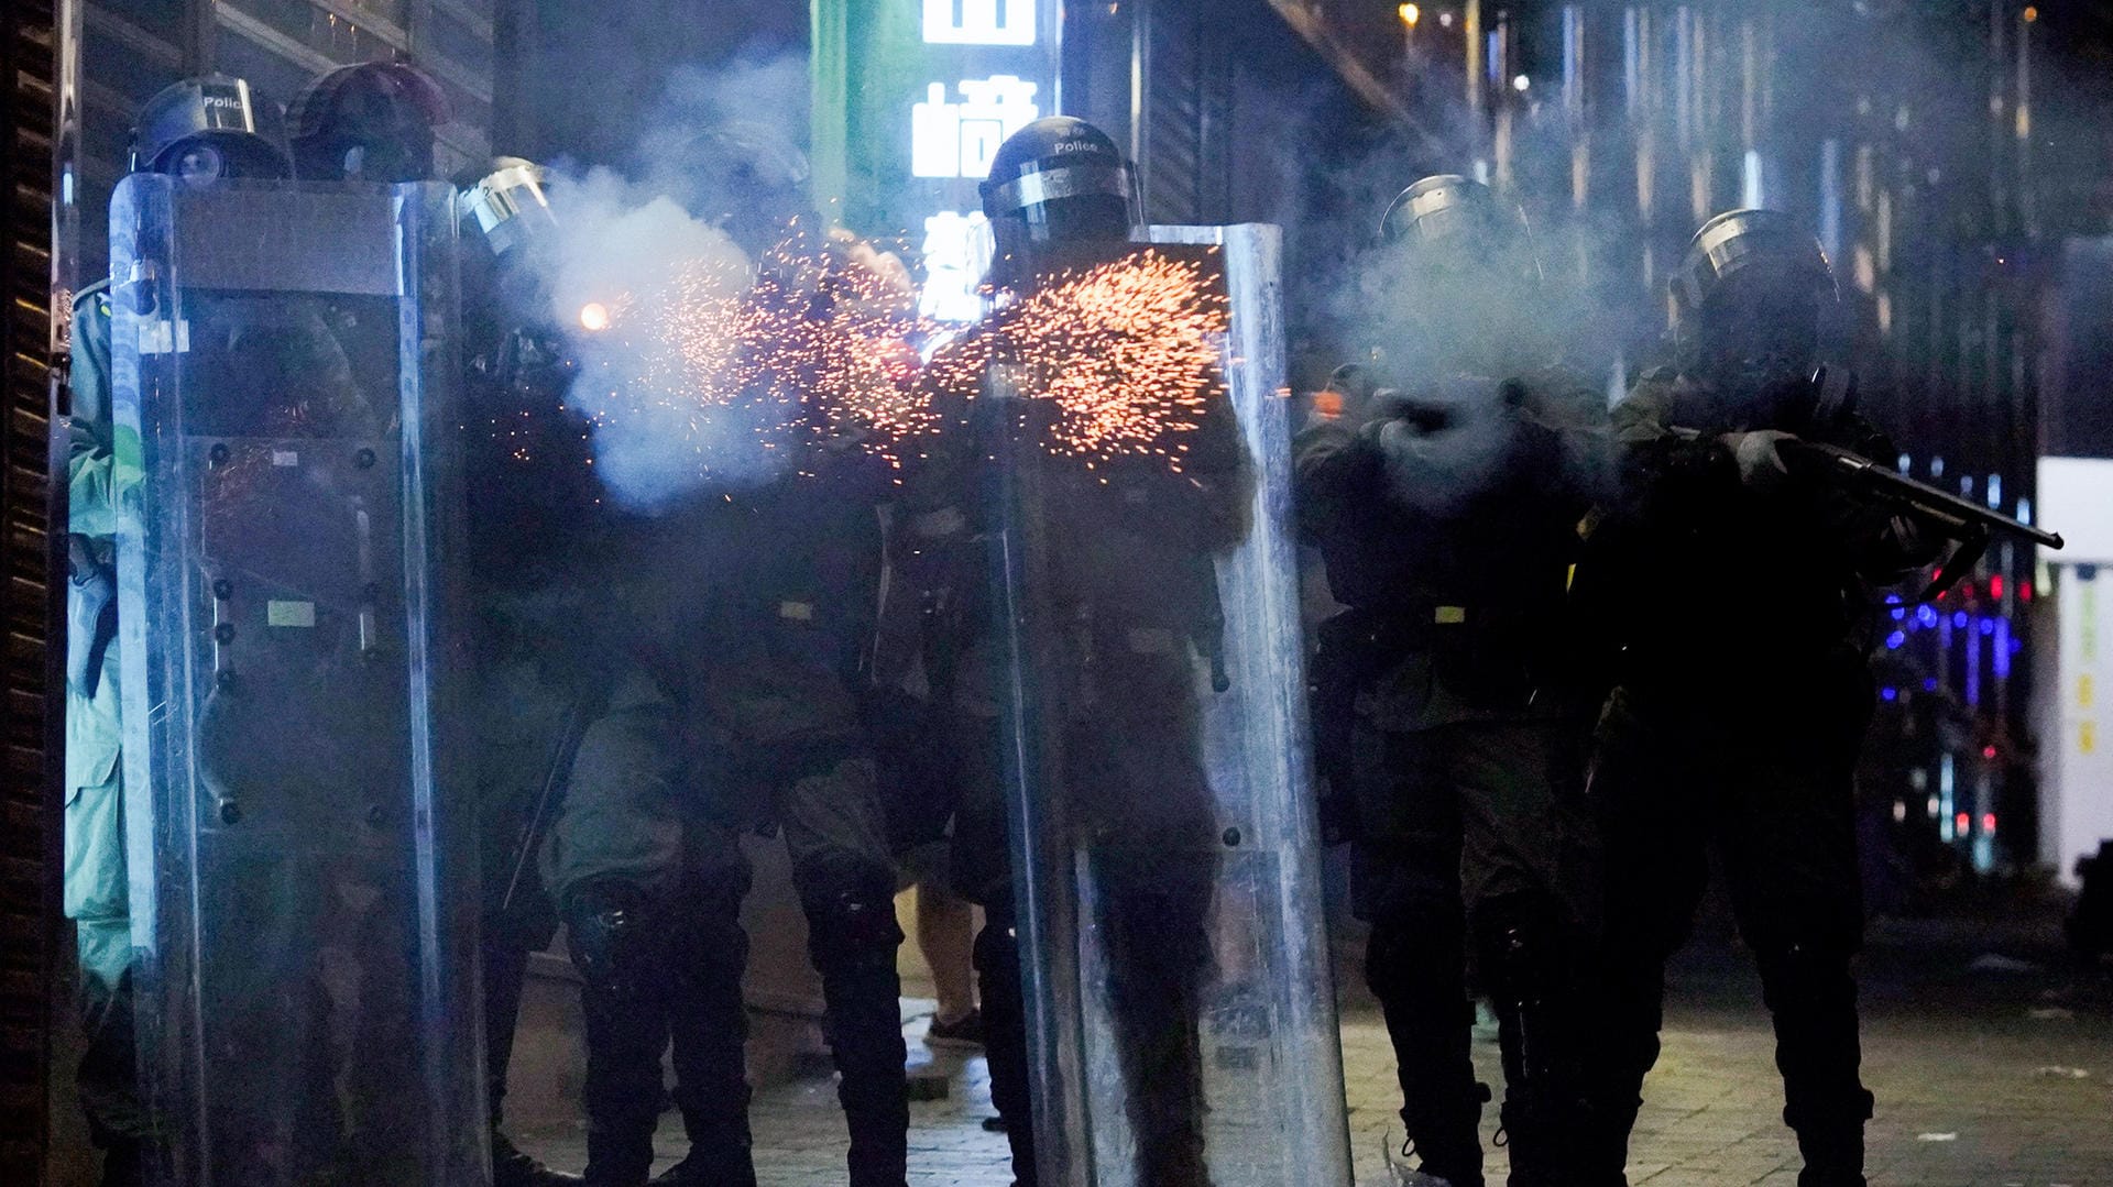
<path id="1" fill-rule="evenodd" d="M 1137 175 L 1105 131 L 1071 116 L 1040 118 L 991 156 L 978 186 L 997 241 L 997 264 L 1046 245 L 1124 243 L 1141 222 Z"/>

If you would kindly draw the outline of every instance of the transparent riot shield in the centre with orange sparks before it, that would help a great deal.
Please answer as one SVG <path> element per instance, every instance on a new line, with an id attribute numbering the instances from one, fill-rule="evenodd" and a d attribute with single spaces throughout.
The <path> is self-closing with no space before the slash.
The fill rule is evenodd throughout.
<path id="1" fill-rule="evenodd" d="M 1092 272 L 1105 283 L 1067 272 L 1076 300 L 1025 298 L 1023 346 L 985 393 L 1025 427 L 997 450 L 993 501 L 1040 1170 L 1097 1187 L 1348 1183 L 1280 234 L 1154 239 Z M 1124 266 L 1141 277 L 1105 270 Z"/>

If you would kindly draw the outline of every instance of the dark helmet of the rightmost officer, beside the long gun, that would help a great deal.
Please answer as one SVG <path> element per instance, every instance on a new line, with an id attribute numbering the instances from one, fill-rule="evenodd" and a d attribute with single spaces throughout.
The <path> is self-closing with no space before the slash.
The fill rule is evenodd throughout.
<path id="1" fill-rule="evenodd" d="M 1733 403 L 1802 391 L 1821 319 L 1840 304 L 1834 268 L 1781 211 L 1726 211 L 1701 226 L 1671 279 L 1680 370 Z"/>

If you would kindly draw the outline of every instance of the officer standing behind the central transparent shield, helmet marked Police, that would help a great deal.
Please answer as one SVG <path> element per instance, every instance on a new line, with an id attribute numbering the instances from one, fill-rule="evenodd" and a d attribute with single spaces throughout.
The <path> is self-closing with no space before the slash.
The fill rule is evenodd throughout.
<path id="1" fill-rule="evenodd" d="M 1128 165 L 1092 125 L 1052 116 L 1014 133 L 983 184 L 995 232 L 991 279 L 1014 298 L 1035 294 L 1063 268 L 1120 258 L 1141 222 Z M 1063 368 L 1023 359 L 1008 340 L 1008 310 L 970 332 L 999 342 L 997 370 Z M 953 368 L 934 359 L 932 374 Z M 1107 944 L 1105 993 L 1120 1064 L 1120 1100 L 1135 1136 L 1139 1183 L 1209 1183 L 1202 1151 L 1200 980 L 1209 963 L 1204 915 L 1213 872 L 1192 853 L 1215 843 L 1200 754 L 1202 653 L 1219 629 L 1213 551 L 1240 532 L 1245 452 L 1230 408 L 1215 401 L 1194 427 L 1181 473 L 1128 458 L 1088 469 L 1040 452 L 1044 408 L 1033 391 L 1004 399 L 1010 380 L 985 393 L 936 391 L 942 439 L 904 496 L 906 585 L 945 591 L 932 625 L 936 661 L 951 674 L 961 741 L 961 805 L 955 817 L 955 885 L 985 906 L 974 965 L 980 978 L 991 1100 L 1012 1143 L 1012 1172 L 1037 1181 L 1031 1069 L 1021 984 L 1021 919 L 1014 902 L 1006 784 L 1025 777 L 1067 800 L 1069 834 L 1046 843 L 1086 851 L 1097 885 L 1092 927 Z M 1031 374 L 1023 374 L 1033 382 Z M 995 382 L 997 387 L 989 387 Z M 1018 406 L 1018 408 L 1016 408 Z M 1027 437 L 1018 437 L 1018 433 Z M 995 463 L 995 465 L 993 465 Z M 1016 507 L 1004 471 L 1035 503 Z M 1014 488 L 1018 490 L 1018 488 Z M 1010 528 L 1008 528 L 1010 526 Z M 1033 589 L 993 587 L 991 541 L 1002 530 L 1033 543 Z M 1025 598 L 1033 640 L 1008 644 L 1002 598 Z M 1016 646 L 1012 646 L 1016 644 Z M 1008 682 L 1040 693 L 1033 720 L 1008 710 Z M 1008 729 L 1042 762 L 1010 769 Z M 1044 779 L 1050 779 L 1044 784 Z M 1082 908 L 1086 910 L 1086 908 Z M 1069 944 L 1052 938 L 1052 944 Z M 1063 961 L 1061 953 L 1037 959 Z M 1084 1007 L 1073 1003 L 1073 1007 Z"/>

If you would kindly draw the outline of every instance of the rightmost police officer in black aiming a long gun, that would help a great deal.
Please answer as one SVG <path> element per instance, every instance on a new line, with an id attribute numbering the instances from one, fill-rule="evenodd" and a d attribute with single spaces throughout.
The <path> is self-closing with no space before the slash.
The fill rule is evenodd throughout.
<path id="1" fill-rule="evenodd" d="M 1798 1183 L 1862 1185 L 1851 775 L 1872 689 L 1851 634 L 1866 591 L 1927 562 L 1933 539 L 1785 465 L 1794 437 L 1893 456 L 1845 397 L 1853 384 L 1813 378 L 1838 298 L 1811 234 L 1777 211 L 1712 218 L 1671 296 L 1680 365 L 1614 408 L 1621 488 L 1578 568 L 1616 648 L 1591 773 L 1606 1001 L 1581 1181 L 1623 1181 L 1665 959 L 1714 851 L 1775 1018 Z"/>

